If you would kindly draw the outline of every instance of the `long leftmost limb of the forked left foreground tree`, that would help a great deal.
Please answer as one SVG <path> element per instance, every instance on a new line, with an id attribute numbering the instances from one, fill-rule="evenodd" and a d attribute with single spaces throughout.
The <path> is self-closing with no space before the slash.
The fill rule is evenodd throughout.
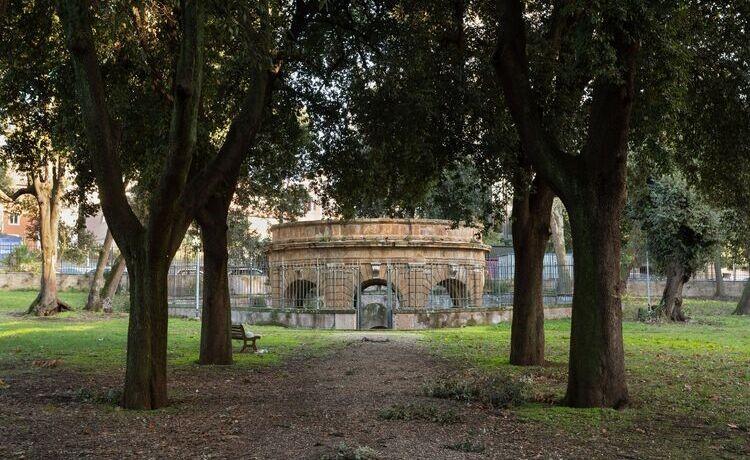
<path id="1" fill-rule="evenodd" d="M 78 100 L 94 169 L 102 211 L 110 223 L 117 244 L 126 242 L 143 226 L 128 203 L 117 154 L 118 136 L 107 110 L 104 83 L 91 31 L 91 6 L 87 0 L 61 0 L 60 16 L 65 28 L 76 79 Z"/>

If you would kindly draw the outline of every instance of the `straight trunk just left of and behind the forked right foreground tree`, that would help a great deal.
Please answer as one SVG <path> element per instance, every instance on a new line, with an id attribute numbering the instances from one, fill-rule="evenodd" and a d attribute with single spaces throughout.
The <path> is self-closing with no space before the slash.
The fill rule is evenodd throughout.
<path id="1" fill-rule="evenodd" d="M 515 253 L 510 363 L 544 364 L 542 275 L 554 195 L 541 179 L 517 190 L 511 214 Z"/>

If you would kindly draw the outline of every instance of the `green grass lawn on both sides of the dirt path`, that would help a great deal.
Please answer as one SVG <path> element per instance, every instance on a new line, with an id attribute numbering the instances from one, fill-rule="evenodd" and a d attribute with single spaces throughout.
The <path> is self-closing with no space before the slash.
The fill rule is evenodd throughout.
<path id="1" fill-rule="evenodd" d="M 121 373 L 127 316 L 80 311 L 83 292 L 65 292 L 74 309 L 51 318 L 21 315 L 33 291 L 0 291 L 0 379 L 40 371 L 35 360 L 61 360 L 83 374 Z M 741 457 L 750 453 L 750 318 L 732 316 L 732 302 L 687 300 L 687 324 L 634 321 L 645 302 L 628 299 L 623 325 L 631 405 L 624 410 L 569 409 L 565 393 L 570 321 L 546 323 L 549 365 L 508 364 L 510 324 L 423 331 L 414 334 L 432 353 L 457 369 L 504 373 L 525 382 L 528 403 L 510 409 L 529 430 L 548 430 L 579 442 L 607 443 L 638 457 Z M 263 326 L 261 348 L 269 353 L 235 355 L 236 368 L 279 365 L 290 356 L 330 349 L 340 333 Z M 172 371 L 201 375 L 200 322 L 170 319 L 168 358 Z M 282 369 L 283 370 L 283 369 Z M 0 381 L 0 391 L 2 382 Z M 479 409 L 477 409 L 479 410 Z M 562 442 L 562 441 L 561 441 Z"/>

